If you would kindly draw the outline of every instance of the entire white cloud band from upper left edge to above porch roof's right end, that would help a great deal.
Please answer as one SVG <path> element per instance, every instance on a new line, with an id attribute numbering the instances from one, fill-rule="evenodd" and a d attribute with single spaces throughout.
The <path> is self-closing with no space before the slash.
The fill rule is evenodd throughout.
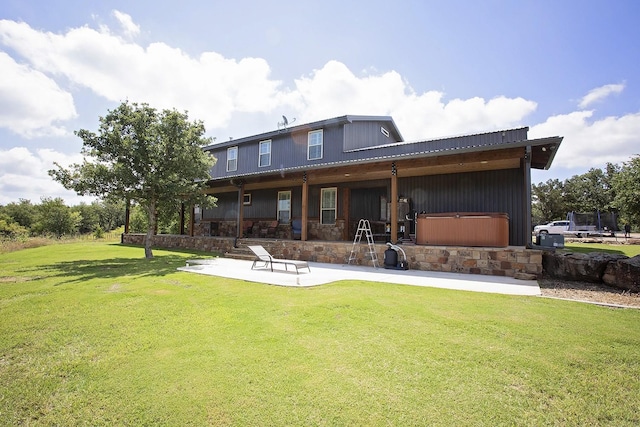
<path id="1" fill-rule="evenodd" d="M 291 111 L 299 122 L 380 114 L 392 115 L 406 139 L 418 139 L 520 125 L 536 108 L 522 98 L 445 102 L 441 92 L 415 93 L 396 71 L 356 76 L 337 61 L 288 89 L 270 79 L 264 59 L 236 61 L 215 52 L 193 58 L 164 43 L 144 48 L 88 27 L 58 35 L 0 21 L 0 37 L 39 72 L 64 76 L 109 101 L 188 110 L 208 129 L 226 127 L 238 113 Z"/>

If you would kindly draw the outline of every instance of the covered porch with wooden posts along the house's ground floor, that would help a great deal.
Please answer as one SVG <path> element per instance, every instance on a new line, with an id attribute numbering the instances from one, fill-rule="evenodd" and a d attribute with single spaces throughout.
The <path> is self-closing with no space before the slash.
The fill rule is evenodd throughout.
<path id="1" fill-rule="evenodd" d="M 208 192 L 218 207 L 193 210 L 188 234 L 352 241 L 367 219 L 376 241 L 415 242 L 418 213 L 488 212 L 508 216 L 509 245 L 529 246 L 530 170 L 548 164 L 555 144 L 526 140 L 215 179 Z"/>

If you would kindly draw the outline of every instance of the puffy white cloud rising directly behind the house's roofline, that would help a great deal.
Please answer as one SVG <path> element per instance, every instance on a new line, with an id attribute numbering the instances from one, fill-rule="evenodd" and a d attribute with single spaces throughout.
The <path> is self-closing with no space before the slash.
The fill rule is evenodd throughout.
<path id="1" fill-rule="evenodd" d="M 357 77 L 337 61 L 295 83 L 288 100 L 304 121 L 344 114 L 391 115 L 407 140 L 521 125 L 537 106 L 506 97 L 445 102 L 442 92 L 415 93 L 395 71 Z"/>

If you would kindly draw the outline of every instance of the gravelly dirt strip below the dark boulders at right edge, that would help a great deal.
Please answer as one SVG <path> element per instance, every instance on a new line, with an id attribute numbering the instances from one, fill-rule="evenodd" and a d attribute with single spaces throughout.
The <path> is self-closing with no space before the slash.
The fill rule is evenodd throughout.
<path id="1" fill-rule="evenodd" d="M 556 279 L 541 279 L 538 284 L 543 297 L 640 308 L 640 293 L 623 291 L 604 284 L 563 282 Z"/>

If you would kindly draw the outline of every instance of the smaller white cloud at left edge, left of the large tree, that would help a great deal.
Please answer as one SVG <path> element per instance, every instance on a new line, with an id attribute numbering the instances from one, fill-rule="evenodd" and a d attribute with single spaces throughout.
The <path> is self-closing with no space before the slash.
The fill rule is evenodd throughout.
<path id="1" fill-rule="evenodd" d="M 76 117 L 70 93 L 5 52 L 0 52 L 0 70 L 0 127 L 25 138 L 66 133 L 56 123 Z"/>

